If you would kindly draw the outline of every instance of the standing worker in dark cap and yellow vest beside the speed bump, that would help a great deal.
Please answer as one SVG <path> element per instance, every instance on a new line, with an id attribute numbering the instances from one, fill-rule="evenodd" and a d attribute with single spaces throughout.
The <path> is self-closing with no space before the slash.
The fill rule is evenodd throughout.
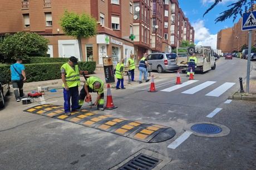
<path id="1" fill-rule="evenodd" d="M 71 111 L 78 109 L 78 86 L 80 86 L 80 71 L 77 58 L 71 56 L 67 63 L 61 66 L 61 79 L 63 81 L 63 97 L 65 115 L 71 115 Z M 70 111 L 71 99 L 71 111 Z"/>

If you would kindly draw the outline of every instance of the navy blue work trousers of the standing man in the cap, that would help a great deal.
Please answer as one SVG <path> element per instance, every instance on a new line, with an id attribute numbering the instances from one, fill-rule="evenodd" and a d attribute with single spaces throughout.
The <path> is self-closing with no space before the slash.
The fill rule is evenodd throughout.
<path id="1" fill-rule="evenodd" d="M 63 88 L 63 96 L 64 96 L 64 110 L 65 113 L 70 112 L 70 98 L 71 98 L 71 109 L 75 111 L 78 108 L 78 86 L 70 87 L 69 90 Z"/>

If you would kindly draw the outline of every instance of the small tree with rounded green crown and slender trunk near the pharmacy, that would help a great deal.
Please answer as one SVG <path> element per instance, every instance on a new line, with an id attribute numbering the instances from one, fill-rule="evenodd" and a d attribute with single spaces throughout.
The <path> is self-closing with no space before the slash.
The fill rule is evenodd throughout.
<path id="1" fill-rule="evenodd" d="M 97 21 L 88 14 L 81 14 L 80 16 L 76 13 L 70 13 L 65 11 L 61 18 L 61 27 L 65 34 L 77 38 L 80 58 L 83 60 L 82 53 L 82 38 L 90 38 L 96 35 Z"/>

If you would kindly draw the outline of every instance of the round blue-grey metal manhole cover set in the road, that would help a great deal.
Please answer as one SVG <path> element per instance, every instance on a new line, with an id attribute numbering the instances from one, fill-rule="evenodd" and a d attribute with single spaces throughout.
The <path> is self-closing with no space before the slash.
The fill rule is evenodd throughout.
<path id="1" fill-rule="evenodd" d="M 208 123 L 200 123 L 191 126 L 191 130 L 197 133 L 204 133 L 204 134 L 217 134 L 222 131 L 219 126 L 208 124 Z"/>

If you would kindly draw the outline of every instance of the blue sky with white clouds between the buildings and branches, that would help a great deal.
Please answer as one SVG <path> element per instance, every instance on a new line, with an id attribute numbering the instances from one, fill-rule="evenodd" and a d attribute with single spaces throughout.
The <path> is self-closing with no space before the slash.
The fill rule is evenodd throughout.
<path id="1" fill-rule="evenodd" d="M 189 22 L 195 29 L 195 44 L 211 46 L 216 49 L 217 34 L 221 29 L 233 27 L 240 16 L 233 22 L 233 18 L 224 22 L 215 23 L 219 13 L 228 9 L 228 5 L 236 0 L 223 0 L 203 17 L 204 12 L 214 0 L 179 0 L 180 8 L 183 10 Z"/>

